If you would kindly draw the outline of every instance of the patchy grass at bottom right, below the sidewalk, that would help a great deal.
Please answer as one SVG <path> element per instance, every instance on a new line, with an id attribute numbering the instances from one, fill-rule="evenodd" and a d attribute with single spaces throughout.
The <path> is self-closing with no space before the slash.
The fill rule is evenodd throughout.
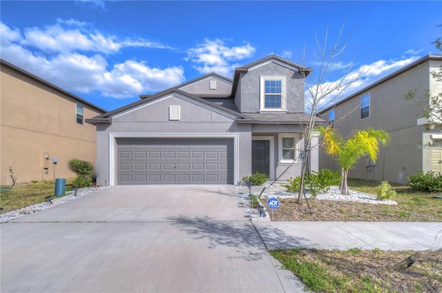
<path id="1" fill-rule="evenodd" d="M 273 250 L 270 254 L 313 292 L 440 292 L 442 250 L 421 252 L 420 262 L 392 267 L 412 251 Z"/>

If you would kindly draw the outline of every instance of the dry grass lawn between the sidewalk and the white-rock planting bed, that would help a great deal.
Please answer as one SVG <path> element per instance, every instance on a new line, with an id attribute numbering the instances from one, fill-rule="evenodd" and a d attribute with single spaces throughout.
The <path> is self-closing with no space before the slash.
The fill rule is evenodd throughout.
<path id="1" fill-rule="evenodd" d="M 349 188 L 376 194 L 376 181 L 349 180 Z M 392 184 L 393 185 L 393 184 Z M 358 203 L 349 201 L 329 201 L 310 199 L 298 205 L 294 199 L 280 199 L 280 207 L 271 221 L 442 221 L 442 199 L 434 194 L 410 190 L 408 186 L 393 185 L 396 190 L 397 205 Z M 265 199 L 262 199 L 265 205 Z"/>

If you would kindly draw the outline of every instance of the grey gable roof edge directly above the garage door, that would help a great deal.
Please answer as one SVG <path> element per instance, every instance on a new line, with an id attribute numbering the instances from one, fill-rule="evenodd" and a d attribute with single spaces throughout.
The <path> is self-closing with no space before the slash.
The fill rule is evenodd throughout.
<path id="1" fill-rule="evenodd" d="M 158 92 L 157 94 L 153 94 L 153 95 L 148 96 L 140 101 L 136 101 L 134 103 L 125 105 L 125 106 L 115 109 L 111 112 L 104 113 L 104 114 L 94 117 L 92 119 L 86 119 L 86 122 L 91 123 L 91 124 L 111 123 L 112 117 L 115 117 L 115 115 L 117 115 L 117 114 L 122 114 L 123 112 L 126 112 L 126 110 L 130 110 L 130 109 L 135 108 L 137 106 L 143 105 L 144 103 L 149 103 L 155 99 L 159 99 L 160 97 L 164 97 L 164 96 L 172 94 L 172 93 L 181 94 L 181 95 L 188 97 L 190 99 L 194 99 L 195 101 L 198 101 L 200 103 L 210 105 L 211 107 L 217 108 L 217 109 L 227 112 L 229 114 L 233 114 L 234 116 L 236 116 L 240 119 L 248 119 L 249 118 L 243 114 L 240 114 L 239 112 L 230 110 L 229 108 L 225 108 L 225 107 L 222 107 L 221 105 L 217 105 L 215 103 L 211 103 L 209 101 L 206 101 L 205 99 L 195 97 L 192 94 L 189 94 L 188 92 L 184 92 L 184 91 L 179 90 L 177 88 L 169 88 L 168 90 L 163 90 L 162 92 Z"/>

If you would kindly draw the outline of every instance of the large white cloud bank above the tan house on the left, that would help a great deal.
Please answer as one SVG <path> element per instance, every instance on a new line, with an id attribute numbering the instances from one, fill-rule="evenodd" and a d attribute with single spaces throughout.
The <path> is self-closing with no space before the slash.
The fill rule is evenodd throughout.
<path id="1" fill-rule="evenodd" d="M 137 97 L 184 81 L 184 69 L 178 66 L 155 68 L 146 61 L 108 61 L 109 54 L 126 47 L 168 46 L 141 38 L 120 41 L 75 19 L 59 19 L 46 28 L 26 28 L 23 34 L 0 22 L 0 39 L 2 59 L 71 92 Z"/>

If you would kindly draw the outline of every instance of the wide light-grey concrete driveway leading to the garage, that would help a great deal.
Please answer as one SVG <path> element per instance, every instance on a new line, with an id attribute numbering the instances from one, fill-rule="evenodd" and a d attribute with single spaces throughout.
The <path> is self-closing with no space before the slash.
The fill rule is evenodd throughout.
<path id="1" fill-rule="evenodd" d="M 302 292 L 238 202 L 231 185 L 122 185 L 3 223 L 1 292 Z"/>

